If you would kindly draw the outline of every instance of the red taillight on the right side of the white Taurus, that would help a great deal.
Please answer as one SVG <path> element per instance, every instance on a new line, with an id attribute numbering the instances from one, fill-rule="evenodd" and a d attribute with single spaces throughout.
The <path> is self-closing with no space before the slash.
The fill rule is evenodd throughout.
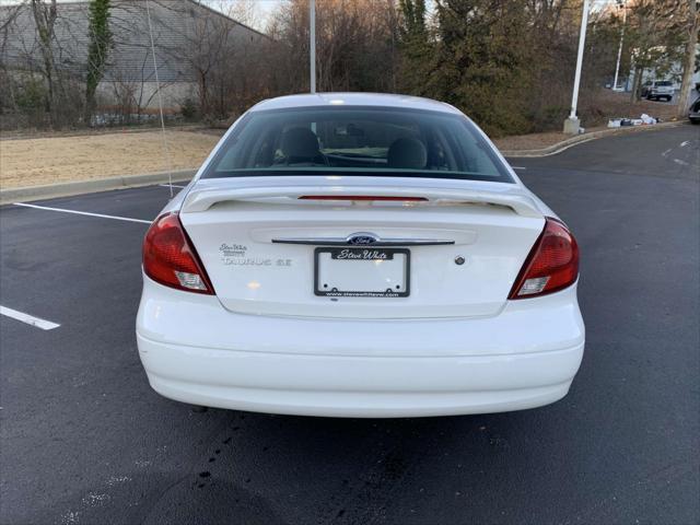
<path id="1" fill-rule="evenodd" d="M 579 245 L 557 219 L 546 218 L 545 230 L 533 246 L 508 299 L 557 292 L 579 277 Z"/>

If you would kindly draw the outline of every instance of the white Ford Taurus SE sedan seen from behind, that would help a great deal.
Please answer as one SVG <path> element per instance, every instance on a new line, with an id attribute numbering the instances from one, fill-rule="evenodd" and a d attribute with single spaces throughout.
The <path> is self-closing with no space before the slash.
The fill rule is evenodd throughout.
<path id="1" fill-rule="evenodd" d="M 261 102 L 143 243 L 151 386 L 208 407 L 415 417 L 539 407 L 581 364 L 579 249 L 454 107 Z"/>

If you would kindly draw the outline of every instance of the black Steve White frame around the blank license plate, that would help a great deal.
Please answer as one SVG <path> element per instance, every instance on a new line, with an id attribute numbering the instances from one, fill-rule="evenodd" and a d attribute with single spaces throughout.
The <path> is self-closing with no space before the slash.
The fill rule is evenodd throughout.
<path id="1" fill-rule="evenodd" d="M 363 254 L 363 253 L 380 253 L 390 256 L 390 259 L 394 258 L 395 255 L 400 254 L 405 256 L 404 259 L 404 287 L 402 290 L 392 291 L 388 289 L 385 291 L 362 291 L 362 290 L 324 290 L 320 283 L 320 271 L 319 271 L 319 262 L 320 262 L 320 254 L 330 253 L 331 260 L 337 259 L 338 255 L 341 255 L 342 252 L 352 254 Z M 336 256 L 336 257 L 334 257 Z M 368 261 L 368 260 L 378 260 L 382 257 L 370 257 L 370 258 L 361 258 L 361 259 L 346 259 L 346 261 Z M 377 247 L 337 247 L 337 246 L 319 246 L 314 249 L 314 294 L 323 298 L 371 298 L 371 299 L 395 299 L 395 298 L 408 298 L 410 295 L 410 260 L 411 253 L 408 248 L 383 248 L 381 246 Z"/>

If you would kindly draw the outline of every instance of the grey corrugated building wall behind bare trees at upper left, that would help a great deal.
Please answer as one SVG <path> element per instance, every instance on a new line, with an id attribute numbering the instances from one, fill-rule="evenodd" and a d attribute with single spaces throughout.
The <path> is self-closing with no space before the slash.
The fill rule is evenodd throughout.
<path id="1" fill-rule="evenodd" d="M 0 21 L 16 7 L 0 7 Z M 200 69 L 217 54 L 219 60 L 245 56 L 268 37 L 192 0 L 151 0 L 150 13 L 155 43 L 155 61 L 164 105 L 176 108 L 196 96 Z M 56 66 L 75 82 L 84 82 L 88 60 L 88 2 L 58 4 Z M 39 71 L 42 56 L 28 4 L 7 27 L 0 60 L 9 70 Z M 115 88 L 132 89 L 136 100 L 156 107 L 155 71 L 143 0 L 113 0 L 110 11 L 113 48 L 104 81 L 98 88 L 104 103 L 116 104 Z M 223 58 L 222 58 L 223 57 Z M 141 85 L 142 84 L 142 85 Z M 147 102 L 150 101 L 150 102 Z"/>

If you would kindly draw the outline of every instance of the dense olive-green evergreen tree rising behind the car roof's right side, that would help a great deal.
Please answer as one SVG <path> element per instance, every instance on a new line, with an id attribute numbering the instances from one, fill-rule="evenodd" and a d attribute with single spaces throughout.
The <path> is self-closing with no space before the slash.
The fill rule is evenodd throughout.
<path id="1" fill-rule="evenodd" d="M 432 96 L 448 102 L 493 136 L 526 132 L 528 81 L 523 0 L 438 1 L 438 67 Z"/>

